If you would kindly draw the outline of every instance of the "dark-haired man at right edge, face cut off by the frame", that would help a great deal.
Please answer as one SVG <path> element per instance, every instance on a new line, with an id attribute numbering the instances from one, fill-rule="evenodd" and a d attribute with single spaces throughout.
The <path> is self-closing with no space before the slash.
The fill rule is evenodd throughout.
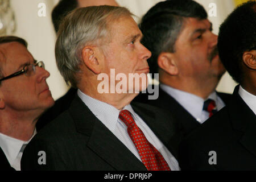
<path id="1" fill-rule="evenodd" d="M 221 24 L 218 50 L 238 82 L 230 104 L 181 143 L 184 170 L 256 170 L 256 2 Z"/>

